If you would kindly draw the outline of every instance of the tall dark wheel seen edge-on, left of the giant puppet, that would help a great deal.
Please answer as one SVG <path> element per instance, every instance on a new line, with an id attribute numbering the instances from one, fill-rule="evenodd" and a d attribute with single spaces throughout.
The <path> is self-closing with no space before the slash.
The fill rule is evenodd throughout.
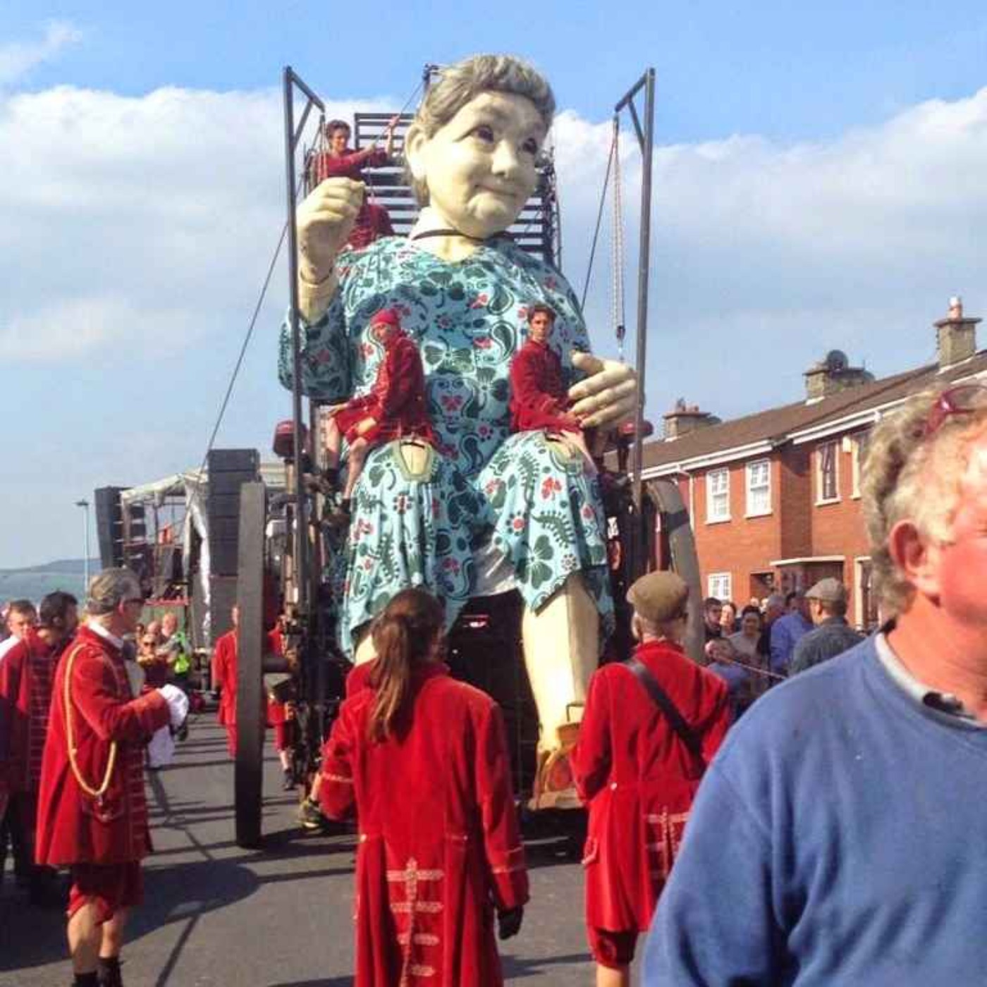
<path id="1" fill-rule="evenodd" d="M 261 843 L 264 703 L 264 532 L 263 483 L 240 488 L 240 541 L 237 574 L 237 756 L 234 775 L 236 841 L 245 848 Z"/>

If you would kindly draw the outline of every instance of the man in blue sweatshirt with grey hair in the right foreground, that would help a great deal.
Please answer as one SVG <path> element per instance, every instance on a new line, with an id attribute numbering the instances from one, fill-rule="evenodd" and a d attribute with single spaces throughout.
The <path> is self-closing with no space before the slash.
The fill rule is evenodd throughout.
<path id="1" fill-rule="evenodd" d="M 647 985 L 987 982 L 987 389 L 884 418 L 863 487 L 893 617 L 727 736 Z"/>

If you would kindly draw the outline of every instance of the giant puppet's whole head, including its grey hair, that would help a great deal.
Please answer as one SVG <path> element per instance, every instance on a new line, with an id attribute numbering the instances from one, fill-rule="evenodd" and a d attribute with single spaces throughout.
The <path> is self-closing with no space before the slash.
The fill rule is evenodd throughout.
<path id="1" fill-rule="evenodd" d="M 554 114 L 548 82 L 512 55 L 474 55 L 443 69 L 405 138 L 419 204 L 466 236 L 502 233 L 535 190 Z"/>

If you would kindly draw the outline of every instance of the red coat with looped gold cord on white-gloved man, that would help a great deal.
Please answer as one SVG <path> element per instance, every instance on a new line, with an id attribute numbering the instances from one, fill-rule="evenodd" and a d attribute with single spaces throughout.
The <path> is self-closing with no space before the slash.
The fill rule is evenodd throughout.
<path id="1" fill-rule="evenodd" d="M 73 652 L 69 738 L 65 671 Z M 169 719 L 168 703 L 160 692 L 132 698 L 120 651 L 89 628 L 80 628 L 55 671 L 38 797 L 38 864 L 126 864 L 146 856 L 151 840 L 144 745 Z M 110 785 L 97 799 L 79 786 L 69 765 L 69 743 L 75 745 L 83 780 L 97 789 L 106 776 L 114 741 Z"/>

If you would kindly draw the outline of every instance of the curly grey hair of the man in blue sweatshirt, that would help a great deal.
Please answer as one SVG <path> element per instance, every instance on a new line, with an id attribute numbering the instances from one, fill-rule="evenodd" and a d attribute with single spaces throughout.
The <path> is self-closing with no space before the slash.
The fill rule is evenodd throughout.
<path id="1" fill-rule="evenodd" d="M 913 587 L 891 557 L 888 538 L 911 520 L 926 538 L 948 543 L 971 441 L 987 424 L 987 405 L 950 415 L 932 435 L 925 424 L 941 391 L 924 391 L 874 426 L 861 474 L 861 497 L 874 589 L 891 614 L 907 608 Z"/>

